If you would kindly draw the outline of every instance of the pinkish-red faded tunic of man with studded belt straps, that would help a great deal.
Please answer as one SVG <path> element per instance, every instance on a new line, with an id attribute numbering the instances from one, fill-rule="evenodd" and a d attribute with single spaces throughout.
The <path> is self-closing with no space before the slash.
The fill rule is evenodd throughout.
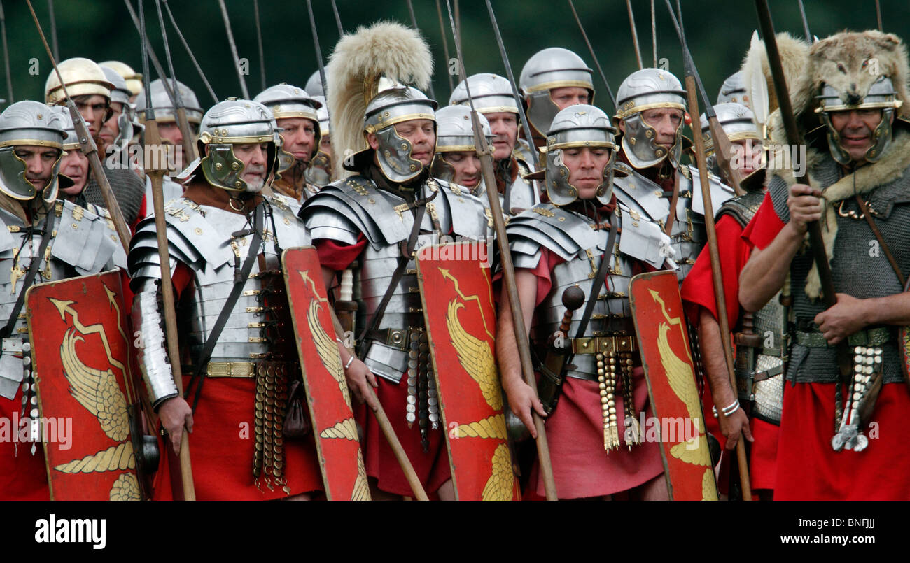
<path id="1" fill-rule="evenodd" d="M 560 256 L 541 247 L 541 260 L 531 269 L 537 276 L 537 302 L 540 305 L 552 287 L 551 272 L 563 262 Z M 608 278 L 609 283 L 609 278 Z M 616 413 L 622 436 L 624 410 L 622 380 L 615 393 Z M 635 412 L 652 417 L 644 372 L 636 367 L 632 374 Z M 645 442 L 607 453 L 603 449 L 603 415 L 600 388 L 596 381 L 566 377 L 559 405 L 546 421 L 553 477 L 559 498 L 591 498 L 612 495 L 647 483 L 663 473 L 660 443 Z M 642 432 L 645 427 L 642 427 Z M 544 495 L 543 480 L 537 467 L 531 483 Z"/>

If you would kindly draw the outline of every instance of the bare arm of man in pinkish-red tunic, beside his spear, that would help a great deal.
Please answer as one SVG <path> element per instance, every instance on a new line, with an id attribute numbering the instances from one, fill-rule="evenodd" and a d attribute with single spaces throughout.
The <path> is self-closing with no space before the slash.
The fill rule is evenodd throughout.
<path id="1" fill-rule="evenodd" d="M 537 302 L 537 276 L 528 270 L 518 269 L 515 271 L 515 284 L 518 287 L 521 314 L 524 317 L 524 331 L 527 334 L 531 328 L 531 317 L 534 316 L 534 304 Z M 531 437 L 536 438 L 537 430 L 534 428 L 531 408 L 537 411 L 541 417 L 545 417 L 546 412 L 543 410 L 543 404 L 537 397 L 537 393 L 522 377 L 521 360 L 513 327 L 509 296 L 503 284 L 496 328 L 496 356 L 500 364 L 502 389 L 509 398 L 509 407 L 512 412 L 521 418 L 524 426 L 528 427 Z"/>

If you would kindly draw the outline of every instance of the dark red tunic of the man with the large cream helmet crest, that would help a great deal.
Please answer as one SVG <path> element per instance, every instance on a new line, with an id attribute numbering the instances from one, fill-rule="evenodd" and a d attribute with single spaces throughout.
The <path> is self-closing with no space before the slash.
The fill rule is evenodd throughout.
<path id="1" fill-rule="evenodd" d="M 367 246 L 367 239 L 361 233 L 357 243 L 353 245 L 318 239 L 313 241 L 313 246 L 316 246 L 319 264 L 340 271 L 347 269 L 350 263 L 357 259 Z M 389 421 L 395 429 L 395 435 L 408 455 L 417 477 L 420 478 L 420 484 L 428 495 L 432 495 L 451 478 L 445 437 L 442 436 L 441 431 L 430 431 L 428 435 L 429 451 L 424 453 L 423 447 L 420 445 L 420 429 L 416 424 L 409 428 L 404 419 L 408 405 L 407 377 L 402 377 L 398 385 L 382 377 L 376 379 L 379 382 L 379 387 L 376 389 L 379 403 L 389 416 Z M 368 410 L 367 408 L 355 409 L 359 414 L 358 422 L 366 434 L 363 454 L 367 474 L 377 479 L 377 486 L 380 490 L 393 495 L 413 496 L 414 493 L 404 476 L 404 471 L 401 470 L 398 460 L 389 447 L 389 441 L 382 435 L 376 417 L 369 414 Z"/>

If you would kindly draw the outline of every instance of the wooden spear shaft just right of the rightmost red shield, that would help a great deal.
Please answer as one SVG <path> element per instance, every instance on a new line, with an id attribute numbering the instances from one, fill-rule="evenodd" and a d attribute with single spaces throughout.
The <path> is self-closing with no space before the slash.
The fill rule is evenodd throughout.
<path id="1" fill-rule="evenodd" d="M 687 54 L 683 53 L 683 56 Z M 698 116 L 698 98 L 695 95 L 695 78 L 686 73 L 685 89 L 689 99 L 689 115 Z M 727 300 L 723 293 L 723 274 L 721 272 L 721 255 L 717 247 L 717 231 L 714 228 L 714 208 L 711 201 L 711 185 L 708 183 L 708 166 L 704 161 L 704 140 L 701 132 L 694 135 L 695 158 L 698 163 L 698 176 L 702 181 L 702 199 L 704 201 L 704 226 L 708 232 L 708 253 L 711 257 L 711 274 L 714 282 L 714 299 L 717 304 L 717 319 L 721 326 L 723 359 L 726 361 L 730 385 L 736 389 L 736 376 L 733 371 L 733 346 L 730 342 L 730 320 L 727 318 Z M 679 174 L 679 172 L 677 172 Z M 723 412 L 720 416 L 725 417 Z M 743 500 L 752 500 L 752 487 L 749 483 L 749 465 L 745 457 L 745 443 L 741 436 L 736 443 L 736 459 L 739 462 L 740 483 L 743 487 Z"/>

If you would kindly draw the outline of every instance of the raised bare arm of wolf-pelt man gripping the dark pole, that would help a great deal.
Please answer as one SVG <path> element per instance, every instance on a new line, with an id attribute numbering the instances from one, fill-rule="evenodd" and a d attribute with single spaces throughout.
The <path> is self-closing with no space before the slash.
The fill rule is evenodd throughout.
<path id="1" fill-rule="evenodd" d="M 763 250 L 753 250 L 740 274 L 739 298 L 745 310 L 755 312 L 764 307 L 784 286 L 790 263 L 803 244 L 808 224 L 822 217 L 821 195 L 819 189 L 805 184 L 790 187 L 787 198 L 790 221 L 770 245 Z"/>

